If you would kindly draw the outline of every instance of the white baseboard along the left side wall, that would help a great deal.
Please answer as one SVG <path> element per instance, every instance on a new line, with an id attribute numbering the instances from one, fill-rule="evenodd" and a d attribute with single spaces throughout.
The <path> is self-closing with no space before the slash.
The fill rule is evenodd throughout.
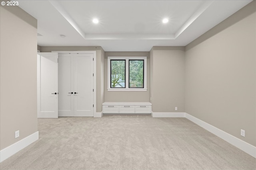
<path id="1" fill-rule="evenodd" d="M 24 149 L 31 143 L 37 141 L 39 139 L 39 132 L 35 132 L 32 135 L 29 135 L 28 137 L 25 137 L 24 139 L 10 145 L 9 147 L 0 150 L 0 162 L 3 160 L 6 160 L 13 154 L 17 153 L 18 151 Z"/>

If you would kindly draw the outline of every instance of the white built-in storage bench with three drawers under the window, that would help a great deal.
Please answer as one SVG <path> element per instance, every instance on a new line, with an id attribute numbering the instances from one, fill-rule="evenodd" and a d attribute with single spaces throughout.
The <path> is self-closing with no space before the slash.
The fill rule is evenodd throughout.
<path id="1" fill-rule="evenodd" d="M 104 102 L 103 114 L 151 114 L 150 102 Z"/>

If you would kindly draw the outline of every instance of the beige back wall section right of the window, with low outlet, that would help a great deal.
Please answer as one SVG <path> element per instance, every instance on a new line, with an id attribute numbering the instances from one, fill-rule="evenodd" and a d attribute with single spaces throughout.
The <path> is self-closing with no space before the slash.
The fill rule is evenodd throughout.
<path id="1" fill-rule="evenodd" d="M 151 59 L 152 111 L 184 112 L 185 47 L 153 47 Z"/>

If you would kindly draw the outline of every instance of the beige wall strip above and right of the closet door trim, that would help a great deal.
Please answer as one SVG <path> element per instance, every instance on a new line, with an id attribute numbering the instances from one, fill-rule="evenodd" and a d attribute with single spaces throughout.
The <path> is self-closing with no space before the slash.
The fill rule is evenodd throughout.
<path id="1" fill-rule="evenodd" d="M 58 47 L 41 47 L 41 52 L 51 51 L 96 51 L 96 112 L 102 111 L 102 103 L 104 102 L 104 50 L 102 47 L 85 47 L 85 46 L 58 46 Z M 103 82 L 102 82 L 103 81 Z M 102 91 L 103 90 L 103 91 Z"/>

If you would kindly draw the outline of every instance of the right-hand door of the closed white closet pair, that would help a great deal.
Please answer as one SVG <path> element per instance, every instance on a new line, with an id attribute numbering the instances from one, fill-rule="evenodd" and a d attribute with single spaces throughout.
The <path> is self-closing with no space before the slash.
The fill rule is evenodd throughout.
<path id="1" fill-rule="evenodd" d="M 74 116 L 93 117 L 93 54 L 74 55 Z"/>

